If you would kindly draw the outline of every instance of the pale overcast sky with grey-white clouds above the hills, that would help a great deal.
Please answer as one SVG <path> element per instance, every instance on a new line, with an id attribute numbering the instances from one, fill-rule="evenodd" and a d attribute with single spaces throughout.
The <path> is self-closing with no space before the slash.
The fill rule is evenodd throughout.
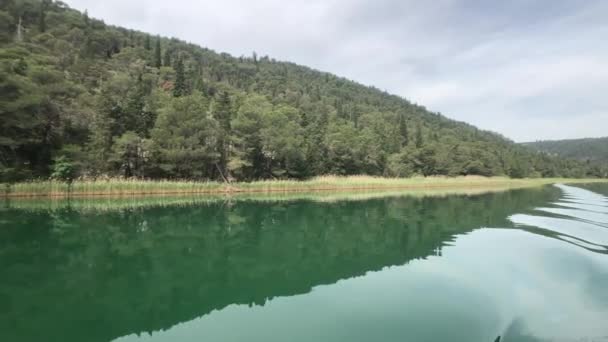
<path id="1" fill-rule="evenodd" d="M 608 135 L 605 0 L 66 0 L 373 85 L 515 140 Z"/>

